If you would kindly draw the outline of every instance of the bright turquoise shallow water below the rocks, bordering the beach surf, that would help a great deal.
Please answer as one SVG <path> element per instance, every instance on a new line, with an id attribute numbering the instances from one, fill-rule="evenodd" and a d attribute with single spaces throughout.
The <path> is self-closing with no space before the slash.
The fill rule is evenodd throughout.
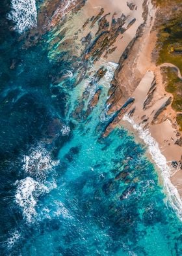
<path id="1" fill-rule="evenodd" d="M 64 144 L 57 144 L 57 157 L 51 154 L 57 140 L 37 142 L 26 152 L 30 159 L 24 159 L 21 171 L 26 164 L 28 169 L 16 184 L 16 199 L 17 194 L 21 199 L 15 202 L 23 220 L 9 249 L 21 255 L 181 255 L 181 221 L 166 202 L 143 146 L 122 127 L 101 138 L 112 117 L 103 112 L 109 87 L 101 82 L 98 87 L 98 105 L 88 118 L 81 112 L 79 121 L 69 109 L 79 104 L 81 90 L 72 89 L 72 101 L 67 88 L 65 125 L 70 129 L 60 135 Z M 42 171 L 38 165 L 44 157 L 50 166 Z M 31 187 L 26 177 L 37 184 L 32 193 L 22 194 Z"/>

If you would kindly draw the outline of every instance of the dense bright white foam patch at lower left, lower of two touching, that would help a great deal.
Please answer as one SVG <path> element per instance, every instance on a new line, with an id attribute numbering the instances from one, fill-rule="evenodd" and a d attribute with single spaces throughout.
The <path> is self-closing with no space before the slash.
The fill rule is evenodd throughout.
<path id="1" fill-rule="evenodd" d="M 45 185 L 33 180 L 31 177 L 17 181 L 16 185 L 18 185 L 15 195 L 16 203 L 23 210 L 23 217 L 31 223 L 36 216 L 35 206 L 38 197 L 45 192 L 48 193 L 49 189 Z"/>

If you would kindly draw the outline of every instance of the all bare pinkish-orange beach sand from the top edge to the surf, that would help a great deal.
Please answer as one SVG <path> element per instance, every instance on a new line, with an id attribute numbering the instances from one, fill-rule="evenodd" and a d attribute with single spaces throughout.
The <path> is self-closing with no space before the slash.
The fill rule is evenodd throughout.
<path id="1" fill-rule="evenodd" d="M 182 184 L 180 185 L 179 183 L 179 180 L 182 179 L 180 168 L 176 170 L 172 166 L 172 163 L 181 161 L 182 148 L 175 143 L 181 133 L 178 131 L 175 121 L 176 114 L 171 106 L 172 95 L 165 91 L 165 81 L 163 80 L 161 69 L 162 67 L 173 67 L 173 65 L 163 63 L 161 66 L 157 66 L 155 59 L 152 57 L 157 42 L 157 32 L 153 29 L 157 8 L 153 7 L 151 1 L 143 3 L 135 0 L 129 3 L 132 6 L 128 5 L 127 0 L 122 1 L 122 3 L 119 0 L 86 1 L 77 14 L 68 16 L 66 26 L 70 24 L 72 31 L 66 31 L 65 38 L 68 42 L 66 48 L 70 47 L 72 54 L 79 56 L 85 48 L 83 39 L 89 33 L 92 37 L 95 37 L 99 29 L 101 29 L 98 23 L 99 19 L 106 18 L 105 22 L 109 22 L 108 31 L 112 35 L 112 19 L 117 20 L 122 14 L 125 15 L 123 34 L 116 36 L 109 48 L 103 48 L 103 53 L 95 61 L 90 73 L 96 72 L 103 65 L 107 67 L 108 62 L 119 64 L 114 74 L 117 86 L 109 112 L 112 113 L 118 110 L 129 97 L 135 99 L 135 103 L 127 109 L 125 114 L 135 110 L 131 116 L 133 121 L 140 125 L 142 129 L 148 129 L 151 136 L 157 141 L 161 153 L 166 157 L 166 162 L 170 167 L 172 183 L 182 195 Z M 80 19 L 80 17 L 83 17 L 83 19 Z M 134 19 L 135 22 L 127 27 Z M 121 68 L 120 57 L 129 46 L 129 43 L 135 39 L 136 31 L 141 24 L 143 24 L 142 32 L 140 31 L 140 35 L 136 38 L 127 57 L 123 60 Z M 80 28 L 79 30 L 78 27 Z M 60 31 L 64 31 L 64 29 L 66 27 L 62 25 Z M 74 42 L 77 42 L 76 48 L 71 44 L 72 37 Z M 65 38 L 62 40 L 65 40 Z M 62 40 L 59 41 L 59 44 L 61 44 Z M 179 69 L 176 70 L 180 77 Z M 153 90 L 151 90 L 152 84 L 154 84 Z M 122 117 L 123 115 L 112 126 L 123 125 Z"/>

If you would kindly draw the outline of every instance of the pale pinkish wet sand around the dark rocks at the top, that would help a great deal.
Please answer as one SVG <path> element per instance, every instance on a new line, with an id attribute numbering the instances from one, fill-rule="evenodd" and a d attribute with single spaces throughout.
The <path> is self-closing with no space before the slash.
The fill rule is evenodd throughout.
<path id="1" fill-rule="evenodd" d="M 81 8 L 79 12 L 77 12 L 77 14 L 75 14 L 72 18 L 69 18 L 70 20 L 66 22 L 66 26 L 69 26 L 69 24 L 72 26 L 72 35 L 77 33 L 77 28 L 83 27 L 83 24 L 85 24 L 88 19 L 96 17 L 101 11 L 101 8 L 104 10 L 101 17 L 105 16 L 105 14 L 108 14 L 106 18 L 109 24 L 111 24 L 112 18 L 117 19 L 122 14 L 124 14 L 127 17 L 124 27 L 127 27 L 129 22 L 135 18 L 135 23 L 131 25 L 131 27 L 129 27 L 129 29 L 127 29 L 123 35 L 119 35 L 116 39 L 116 42 L 114 42 L 112 45 L 112 48 L 116 48 L 116 50 L 114 50 L 114 52 L 109 54 L 107 57 L 105 56 L 105 52 L 101 56 L 101 59 L 104 59 L 105 61 L 118 63 L 120 56 L 123 54 L 123 51 L 129 42 L 131 42 L 133 37 L 135 37 L 136 29 L 138 29 L 138 26 L 144 22 L 142 17 L 142 1 L 135 0 L 133 3 L 135 4 L 136 9 L 130 10 L 130 8 L 127 6 L 127 0 L 122 2 L 119 0 L 88 0 L 86 1 L 84 7 Z M 80 19 L 80 17 L 82 17 L 82 19 Z M 79 54 L 81 52 L 82 46 L 80 42 L 83 37 L 86 37 L 90 31 L 92 35 L 96 34 L 98 31 L 98 23 L 96 22 L 92 28 L 90 27 L 91 23 L 92 22 L 89 21 L 88 24 L 85 25 L 84 29 L 81 29 L 81 31 L 77 33 L 77 48 L 79 48 L 79 50 L 75 50 L 74 54 Z M 63 29 L 64 26 L 62 27 L 62 30 Z M 67 35 L 67 37 L 72 37 L 72 35 Z"/>

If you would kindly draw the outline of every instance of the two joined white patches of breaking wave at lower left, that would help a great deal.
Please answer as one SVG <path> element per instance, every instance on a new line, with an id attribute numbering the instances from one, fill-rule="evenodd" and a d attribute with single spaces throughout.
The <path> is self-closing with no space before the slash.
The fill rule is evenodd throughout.
<path id="1" fill-rule="evenodd" d="M 53 178 L 47 181 L 47 174 L 57 165 L 59 161 L 53 161 L 42 145 L 31 148 L 29 155 L 24 155 L 22 170 L 29 176 L 16 181 L 15 199 L 28 223 L 34 222 L 38 198 L 57 187 Z"/>

